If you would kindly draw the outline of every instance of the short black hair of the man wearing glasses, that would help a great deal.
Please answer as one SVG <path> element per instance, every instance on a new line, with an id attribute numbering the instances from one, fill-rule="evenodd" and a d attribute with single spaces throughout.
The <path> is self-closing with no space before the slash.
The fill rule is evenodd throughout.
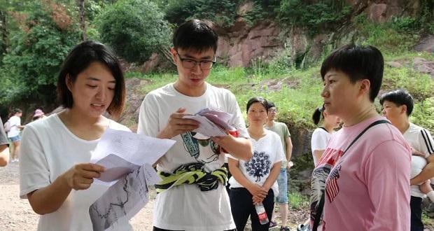
<path id="1" fill-rule="evenodd" d="M 205 20 L 188 20 L 184 22 L 174 32 L 174 48 L 183 48 L 186 50 L 195 50 L 202 52 L 204 50 L 217 50 L 218 35 L 212 24 Z"/>

